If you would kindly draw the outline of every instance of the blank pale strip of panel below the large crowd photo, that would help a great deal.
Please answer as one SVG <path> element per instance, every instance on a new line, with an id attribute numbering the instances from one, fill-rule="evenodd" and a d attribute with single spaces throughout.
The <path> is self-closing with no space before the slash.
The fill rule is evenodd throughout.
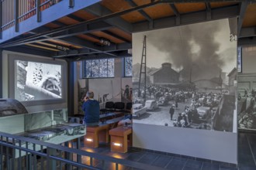
<path id="1" fill-rule="evenodd" d="M 237 134 L 133 123 L 133 147 L 237 164 Z"/>

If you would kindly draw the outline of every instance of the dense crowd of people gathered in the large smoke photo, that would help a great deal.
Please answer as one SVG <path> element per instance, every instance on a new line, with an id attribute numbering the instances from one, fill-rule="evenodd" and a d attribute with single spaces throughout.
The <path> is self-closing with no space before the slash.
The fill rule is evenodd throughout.
<path id="1" fill-rule="evenodd" d="M 137 96 L 138 93 L 138 90 L 135 90 L 135 96 Z M 194 124 L 196 128 L 210 129 L 213 125 L 213 115 L 220 104 L 223 93 L 221 93 L 221 90 L 219 93 L 198 92 L 195 88 L 189 87 L 181 89 L 148 84 L 146 91 L 141 90 L 140 97 L 146 97 L 146 100 L 154 99 L 157 101 L 160 100 L 161 97 L 165 97 L 166 100 L 168 100 L 166 106 L 171 104 L 169 114 L 173 125 L 176 127 L 189 128 Z M 135 102 L 136 101 L 139 100 L 135 100 Z M 184 105 L 185 107 L 181 108 Z M 205 115 L 199 113 L 199 107 L 208 109 Z"/>

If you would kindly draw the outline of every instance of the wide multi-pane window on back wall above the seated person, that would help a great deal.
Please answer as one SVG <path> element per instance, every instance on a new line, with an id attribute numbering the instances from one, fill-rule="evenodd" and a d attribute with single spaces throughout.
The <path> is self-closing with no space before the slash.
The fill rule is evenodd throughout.
<path id="1" fill-rule="evenodd" d="M 83 61 L 83 78 L 114 77 L 115 59 L 90 59 Z"/>

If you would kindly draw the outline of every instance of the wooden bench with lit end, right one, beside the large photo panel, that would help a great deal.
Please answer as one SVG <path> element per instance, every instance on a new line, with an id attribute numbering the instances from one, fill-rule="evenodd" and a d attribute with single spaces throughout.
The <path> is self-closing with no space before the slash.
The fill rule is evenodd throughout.
<path id="1" fill-rule="evenodd" d="M 132 133 L 132 128 L 123 126 L 113 128 L 109 131 L 111 136 L 111 151 L 126 153 L 128 150 L 127 136 Z"/>

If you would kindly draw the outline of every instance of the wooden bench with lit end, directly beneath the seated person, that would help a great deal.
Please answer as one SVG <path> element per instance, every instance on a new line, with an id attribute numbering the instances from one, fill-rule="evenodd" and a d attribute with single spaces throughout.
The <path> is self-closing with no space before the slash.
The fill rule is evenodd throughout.
<path id="1" fill-rule="evenodd" d="M 103 138 L 100 138 L 102 137 Z M 102 139 L 102 140 L 100 140 Z M 85 146 L 98 148 L 99 141 L 109 142 L 109 124 L 99 124 L 98 126 L 87 126 L 85 134 Z"/>

